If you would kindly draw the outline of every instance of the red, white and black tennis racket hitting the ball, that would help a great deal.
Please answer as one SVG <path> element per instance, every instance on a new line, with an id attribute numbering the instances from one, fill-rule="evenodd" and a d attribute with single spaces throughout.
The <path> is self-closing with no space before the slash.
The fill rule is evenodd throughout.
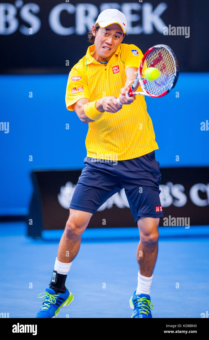
<path id="1" fill-rule="evenodd" d="M 155 80 L 149 80 L 145 75 L 145 71 L 149 67 L 154 67 L 159 71 L 159 76 Z M 146 51 L 140 61 L 136 78 L 127 91 L 127 95 L 128 97 L 143 95 L 153 98 L 165 96 L 174 88 L 178 73 L 178 63 L 172 49 L 167 45 L 155 45 Z M 134 92 L 138 82 L 142 92 Z M 122 104 L 120 103 L 120 105 Z"/>

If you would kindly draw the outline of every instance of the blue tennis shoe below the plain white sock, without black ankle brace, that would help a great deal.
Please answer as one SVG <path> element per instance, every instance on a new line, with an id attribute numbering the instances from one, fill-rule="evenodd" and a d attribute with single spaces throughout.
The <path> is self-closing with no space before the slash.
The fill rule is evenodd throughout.
<path id="1" fill-rule="evenodd" d="M 134 295 L 129 300 L 129 304 L 130 308 L 134 310 L 132 318 L 152 318 L 151 309 L 153 309 L 153 304 L 150 301 L 150 295 L 136 295 L 135 290 Z"/>

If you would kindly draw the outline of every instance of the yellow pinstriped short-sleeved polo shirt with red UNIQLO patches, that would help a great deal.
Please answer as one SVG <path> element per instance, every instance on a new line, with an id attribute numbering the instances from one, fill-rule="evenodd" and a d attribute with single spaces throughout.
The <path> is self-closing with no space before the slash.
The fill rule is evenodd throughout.
<path id="1" fill-rule="evenodd" d="M 119 97 L 126 82 L 125 71 L 139 67 L 143 54 L 135 45 L 120 44 L 107 64 L 100 64 L 91 56 L 95 49 L 89 46 L 86 55 L 73 66 L 66 89 L 66 106 L 81 98 L 90 102 L 106 96 Z M 106 67 L 105 67 L 106 65 Z M 141 90 L 139 87 L 138 91 Z M 86 136 L 87 156 L 100 159 L 133 159 L 158 149 L 144 96 L 136 96 L 130 105 L 123 105 L 116 113 L 104 112 L 99 120 L 89 122 Z"/>

